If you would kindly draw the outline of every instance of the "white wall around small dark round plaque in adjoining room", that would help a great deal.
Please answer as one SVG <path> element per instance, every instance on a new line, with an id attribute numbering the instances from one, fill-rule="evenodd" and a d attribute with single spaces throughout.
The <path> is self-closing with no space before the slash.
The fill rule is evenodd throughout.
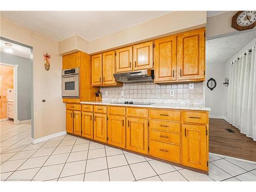
<path id="1" fill-rule="evenodd" d="M 207 80 L 214 78 L 217 86 L 214 90 L 207 87 Z M 223 118 L 224 117 L 224 90 L 225 86 L 222 84 L 225 78 L 225 63 L 206 63 L 205 72 L 205 106 L 211 108 L 209 115 L 211 117 Z"/>

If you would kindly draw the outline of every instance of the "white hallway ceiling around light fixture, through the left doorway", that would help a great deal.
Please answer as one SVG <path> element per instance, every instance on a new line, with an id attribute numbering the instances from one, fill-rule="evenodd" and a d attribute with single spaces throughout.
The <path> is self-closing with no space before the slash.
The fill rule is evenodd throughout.
<path id="1" fill-rule="evenodd" d="M 8 42 L 8 41 L 0 40 L 1 52 L 3 52 L 3 53 L 5 53 L 5 47 L 6 47 L 5 43 L 6 42 Z M 30 49 L 29 48 L 19 46 L 16 44 L 12 44 L 10 42 L 8 42 L 8 43 L 12 45 L 11 48 L 13 50 L 13 53 L 11 55 L 16 55 L 19 57 L 25 57 L 25 58 L 30 59 Z"/>

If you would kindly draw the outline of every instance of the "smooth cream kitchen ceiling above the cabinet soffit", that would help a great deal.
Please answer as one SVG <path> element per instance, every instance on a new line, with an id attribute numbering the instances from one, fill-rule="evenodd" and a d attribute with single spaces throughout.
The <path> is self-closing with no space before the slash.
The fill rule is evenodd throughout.
<path id="1" fill-rule="evenodd" d="M 90 41 L 172 11 L 1 11 L 1 17 L 50 39 Z"/>

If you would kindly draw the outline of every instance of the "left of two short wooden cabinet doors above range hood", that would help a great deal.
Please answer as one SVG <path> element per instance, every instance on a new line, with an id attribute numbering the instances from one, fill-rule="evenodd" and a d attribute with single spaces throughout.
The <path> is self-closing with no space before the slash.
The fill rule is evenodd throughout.
<path id="1" fill-rule="evenodd" d="M 133 47 L 116 50 L 116 72 L 132 71 Z"/>

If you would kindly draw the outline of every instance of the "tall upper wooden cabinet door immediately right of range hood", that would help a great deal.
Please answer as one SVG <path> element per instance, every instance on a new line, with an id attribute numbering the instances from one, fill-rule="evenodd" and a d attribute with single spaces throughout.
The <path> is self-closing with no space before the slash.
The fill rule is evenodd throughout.
<path id="1" fill-rule="evenodd" d="M 176 36 L 155 40 L 155 82 L 176 80 Z"/>

